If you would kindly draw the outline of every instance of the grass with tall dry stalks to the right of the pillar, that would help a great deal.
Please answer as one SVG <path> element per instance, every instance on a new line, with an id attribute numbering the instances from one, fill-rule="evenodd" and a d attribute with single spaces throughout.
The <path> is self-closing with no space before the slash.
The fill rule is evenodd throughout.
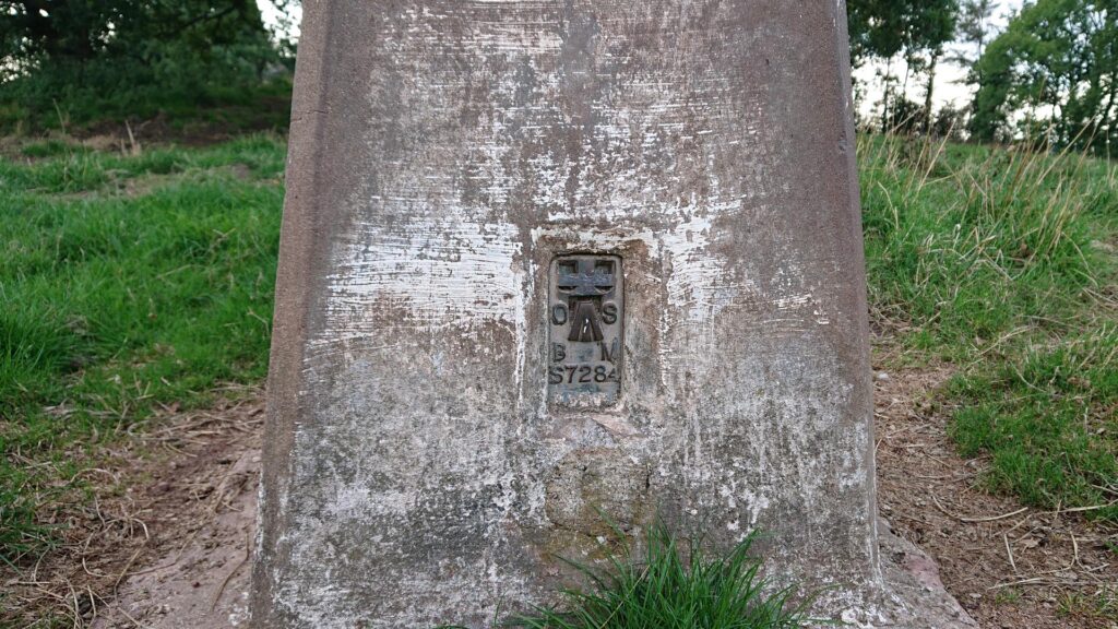
<path id="1" fill-rule="evenodd" d="M 870 138 L 871 303 L 944 402 L 985 484 L 1118 520 L 1118 168 L 1079 156 Z"/>

